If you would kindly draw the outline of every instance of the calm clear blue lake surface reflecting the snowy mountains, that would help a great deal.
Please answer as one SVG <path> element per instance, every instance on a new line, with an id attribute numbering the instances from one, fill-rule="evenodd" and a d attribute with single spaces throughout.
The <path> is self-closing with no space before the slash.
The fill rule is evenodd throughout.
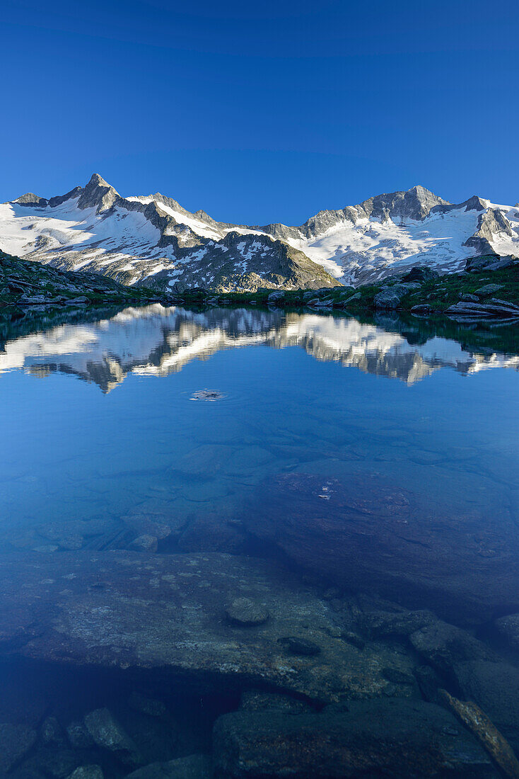
<path id="1" fill-rule="evenodd" d="M 48 775 L 58 755 L 68 774 L 87 761 L 122 777 L 213 749 L 217 775 L 238 776 L 225 738 L 211 746 L 213 723 L 278 707 L 279 693 L 335 717 L 348 700 L 435 707 L 447 687 L 517 749 L 519 710 L 495 691 L 507 679 L 519 693 L 519 357 L 509 330 L 500 343 L 491 328 L 425 327 L 154 305 L 9 332 L 0 720 L 38 734 L 12 775 L 25 763 Z M 163 586 L 180 599 L 170 641 Z M 142 625 L 128 616 L 138 600 Z M 470 663 L 491 663 L 491 679 Z M 30 721 L 14 714 L 27 679 L 45 700 Z M 61 733 L 100 710 L 139 758 L 103 745 L 91 721 L 89 746 L 41 735 L 45 717 Z M 481 773 L 466 775 L 497 775 L 475 744 Z"/>

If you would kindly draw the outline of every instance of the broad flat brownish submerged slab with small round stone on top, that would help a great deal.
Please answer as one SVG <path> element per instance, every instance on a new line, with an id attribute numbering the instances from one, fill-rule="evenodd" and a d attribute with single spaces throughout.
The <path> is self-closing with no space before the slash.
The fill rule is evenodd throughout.
<path id="1" fill-rule="evenodd" d="M 170 676 L 190 674 L 202 692 L 261 685 L 324 703 L 377 696 L 387 686 L 380 669 L 394 664 L 390 647 L 359 650 L 342 640 L 331 603 L 279 564 L 260 559 L 214 552 L 82 551 L 44 558 L 10 552 L 0 556 L 0 593 L 0 652 L 160 668 Z M 242 598 L 261 605 L 269 619 L 246 628 L 226 619 L 226 604 Z M 286 637 L 321 652 L 287 653 L 279 643 Z M 86 721 L 97 743 L 103 717 Z"/>

